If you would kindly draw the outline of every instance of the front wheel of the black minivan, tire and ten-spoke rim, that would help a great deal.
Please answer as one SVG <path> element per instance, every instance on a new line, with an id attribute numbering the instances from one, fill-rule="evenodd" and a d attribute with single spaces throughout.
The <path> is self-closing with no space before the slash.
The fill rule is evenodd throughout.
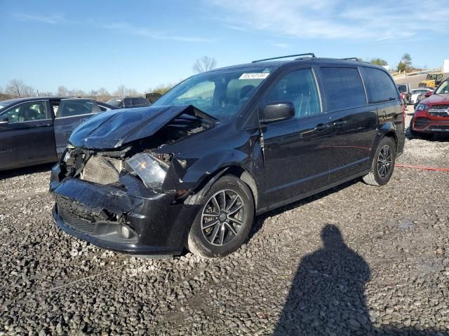
<path id="1" fill-rule="evenodd" d="M 223 195 L 225 195 L 225 209 L 222 207 Z M 220 197 L 220 200 L 217 197 Z M 250 188 L 235 176 L 225 175 L 218 179 L 198 202 L 203 205 L 189 231 L 187 241 L 189 251 L 203 258 L 224 257 L 236 251 L 248 237 L 253 226 L 255 211 Z M 227 207 L 229 209 L 226 211 Z M 235 209 L 238 209 L 237 212 L 231 214 Z M 216 214 L 220 215 L 215 216 Z M 222 218 L 224 217 L 222 214 L 227 218 Z M 217 221 L 219 223 L 213 225 Z"/>

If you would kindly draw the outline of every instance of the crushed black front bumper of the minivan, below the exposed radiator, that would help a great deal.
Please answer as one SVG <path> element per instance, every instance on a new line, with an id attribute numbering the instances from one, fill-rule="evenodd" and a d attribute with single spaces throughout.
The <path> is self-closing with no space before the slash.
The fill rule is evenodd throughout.
<path id="1" fill-rule="evenodd" d="M 102 186 L 79 179 L 58 181 L 53 221 L 69 235 L 96 246 L 132 254 L 175 255 L 187 242 L 197 205 L 175 202 L 174 193 L 156 193 L 130 174 L 121 186 Z"/>

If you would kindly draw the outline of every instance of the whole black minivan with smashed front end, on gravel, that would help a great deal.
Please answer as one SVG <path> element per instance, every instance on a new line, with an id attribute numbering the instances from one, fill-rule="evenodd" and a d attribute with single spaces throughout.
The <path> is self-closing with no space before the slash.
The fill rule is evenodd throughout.
<path id="1" fill-rule="evenodd" d="M 219 257 L 257 214 L 359 176 L 387 183 L 405 141 L 393 79 L 306 55 L 200 73 L 87 120 L 52 170 L 55 223 L 115 251 Z"/>

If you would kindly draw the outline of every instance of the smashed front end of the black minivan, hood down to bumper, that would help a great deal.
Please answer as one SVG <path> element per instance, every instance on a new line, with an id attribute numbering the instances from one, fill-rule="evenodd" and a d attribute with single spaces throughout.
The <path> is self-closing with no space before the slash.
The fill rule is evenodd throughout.
<path id="1" fill-rule="evenodd" d="M 178 254 L 199 205 L 182 177 L 195 159 L 170 144 L 215 127 L 194 106 L 102 113 L 80 125 L 51 174 L 53 220 L 75 237 L 134 254 Z"/>

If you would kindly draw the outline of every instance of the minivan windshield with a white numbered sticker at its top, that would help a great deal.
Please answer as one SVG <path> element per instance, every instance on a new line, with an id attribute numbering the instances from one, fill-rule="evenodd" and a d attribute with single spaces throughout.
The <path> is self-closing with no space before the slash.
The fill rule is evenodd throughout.
<path id="1" fill-rule="evenodd" d="M 270 70 L 264 66 L 200 73 L 173 87 L 152 106 L 193 105 L 227 120 L 241 111 Z"/>

